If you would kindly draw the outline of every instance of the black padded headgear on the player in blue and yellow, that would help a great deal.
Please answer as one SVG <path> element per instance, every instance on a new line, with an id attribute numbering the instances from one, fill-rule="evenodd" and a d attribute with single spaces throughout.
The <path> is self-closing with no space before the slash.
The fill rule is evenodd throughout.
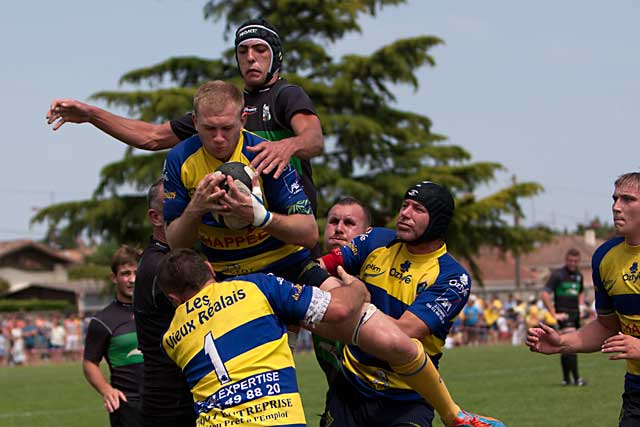
<path id="1" fill-rule="evenodd" d="M 455 209 L 455 202 L 449 190 L 435 182 L 422 181 L 411 186 L 404 198 L 420 203 L 429 211 L 429 225 L 415 242 L 444 239 Z"/>

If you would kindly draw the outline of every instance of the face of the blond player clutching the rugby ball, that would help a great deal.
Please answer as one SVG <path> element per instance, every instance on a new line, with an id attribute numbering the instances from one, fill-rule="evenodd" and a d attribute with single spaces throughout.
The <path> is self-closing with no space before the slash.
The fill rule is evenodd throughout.
<path id="1" fill-rule="evenodd" d="M 230 103 L 222 111 L 215 111 L 202 105 L 194 115 L 194 124 L 204 149 L 222 162 L 231 158 L 238 145 L 245 123 L 241 108 Z"/>

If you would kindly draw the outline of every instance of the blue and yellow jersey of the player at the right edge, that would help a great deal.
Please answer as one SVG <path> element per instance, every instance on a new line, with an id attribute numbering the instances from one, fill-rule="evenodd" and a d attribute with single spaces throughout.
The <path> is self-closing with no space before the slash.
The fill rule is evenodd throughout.
<path id="1" fill-rule="evenodd" d="M 615 313 L 622 333 L 640 338 L 640 246 L 623 237 L 603 243 L 593 254 L 591 268 L 599 315 Z M 640 391 L 640 361 L 627 360 L 625 390 Z"/>

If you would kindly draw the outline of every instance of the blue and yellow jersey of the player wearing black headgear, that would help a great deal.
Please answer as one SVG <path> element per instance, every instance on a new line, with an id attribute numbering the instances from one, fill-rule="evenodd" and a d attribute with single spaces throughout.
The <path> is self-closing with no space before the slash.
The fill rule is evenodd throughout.
<path id="1" fill-rule="evenodd" d="M 469 298 L 471 279 L 446 246 L 416 255 L 394 239 L 395 231 L 384 228 L 356 237 L 340 249 L 343 265 L 366 283 L 371 302 L 384 313 L 399 319 L 409 310 L 429 327 L 422 344 L 437 366 L 453 320 Z M 386 362 L 356 346 L 345 347 L 343 371 L 365 395 L 423 400 Z"/>

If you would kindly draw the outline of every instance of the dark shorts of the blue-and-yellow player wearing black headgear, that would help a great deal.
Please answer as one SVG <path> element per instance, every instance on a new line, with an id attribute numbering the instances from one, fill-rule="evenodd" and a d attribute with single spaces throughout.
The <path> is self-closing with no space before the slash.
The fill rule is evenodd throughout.
<path id="1" fill-rule="evenodd" d="M 327 393 L 320 427 L 431 427 L 433 416 L 424 401 L 366 397 L 340 375 Z"/>

